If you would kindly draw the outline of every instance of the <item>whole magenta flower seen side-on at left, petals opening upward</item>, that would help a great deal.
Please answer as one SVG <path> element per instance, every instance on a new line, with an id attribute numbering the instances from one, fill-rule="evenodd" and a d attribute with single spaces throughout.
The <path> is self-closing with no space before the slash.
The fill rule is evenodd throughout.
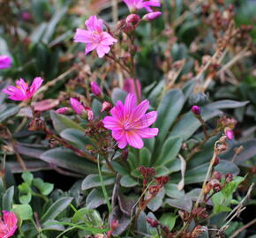
<path id="1" fill-rule="evenodd" d="M 20 78 L 16 81 L 16 86 L 8 86 L 3 90 L 3 93 L 9 94 L 11 100 L 28 100 L 34 96 L 34 93 L 40 88 L 42 79 L 40 77 L 34 78 L 31 86 Z"/>

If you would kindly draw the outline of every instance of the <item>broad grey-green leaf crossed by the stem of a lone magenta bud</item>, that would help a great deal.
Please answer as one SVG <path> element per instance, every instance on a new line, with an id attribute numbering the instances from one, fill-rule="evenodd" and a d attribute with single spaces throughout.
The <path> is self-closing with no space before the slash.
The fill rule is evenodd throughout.
<path id="1" fill-rule="evenodd" d="M 205 122 L 207 120 L 217 116 L 222 115 L 220 110 L 212 110 L 211 108 L 202 107 L 201 115 Z M 183 140 L 186 140 L 192 136 L 192 134 L 198 130 L 201 126 L 200 121 L 192 114 L 192 112 L 185 113 L 182 118 L 173 126 L 171 132 L 169 133 L 170 137 L 181 137 Z"/>

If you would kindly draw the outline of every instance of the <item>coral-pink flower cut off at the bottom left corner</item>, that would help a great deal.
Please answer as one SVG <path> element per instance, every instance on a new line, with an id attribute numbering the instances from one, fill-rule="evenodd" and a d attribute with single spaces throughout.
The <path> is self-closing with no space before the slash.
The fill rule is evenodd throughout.
<path id="1" fill-rule="evenodd" d="M 11 237 L 17 229 L 17 221 L 14 212 L 3 211 L 3 219 L 0 218 L 0 237 L 8 238 Z"/>

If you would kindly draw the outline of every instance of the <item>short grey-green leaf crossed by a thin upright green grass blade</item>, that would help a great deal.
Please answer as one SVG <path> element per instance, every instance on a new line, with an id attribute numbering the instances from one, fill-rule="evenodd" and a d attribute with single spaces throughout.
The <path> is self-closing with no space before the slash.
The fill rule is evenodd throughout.
<path id="1" fill-rule="evenodd" d="M 112 176 L 103 176 L 104 185 L 111 185 L 115 183 L 115 178 Z M 101 187 L 100 175 L 87 175 L 82 182 L 82 190 L 89 190 L 96 187 Z"/>

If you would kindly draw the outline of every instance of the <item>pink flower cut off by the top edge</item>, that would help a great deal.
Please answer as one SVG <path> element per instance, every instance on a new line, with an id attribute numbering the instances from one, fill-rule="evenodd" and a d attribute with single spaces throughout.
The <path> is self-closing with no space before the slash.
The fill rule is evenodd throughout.
<path id="1" fill-rule="evenodd" d="M 152 12 L 151 7 L 160 7 L 160 0 L 123 0 L 124 3 L 128 6 L 130 11 L 138 11 L 141 8 L 145 8 L 148 12 Z"/>

